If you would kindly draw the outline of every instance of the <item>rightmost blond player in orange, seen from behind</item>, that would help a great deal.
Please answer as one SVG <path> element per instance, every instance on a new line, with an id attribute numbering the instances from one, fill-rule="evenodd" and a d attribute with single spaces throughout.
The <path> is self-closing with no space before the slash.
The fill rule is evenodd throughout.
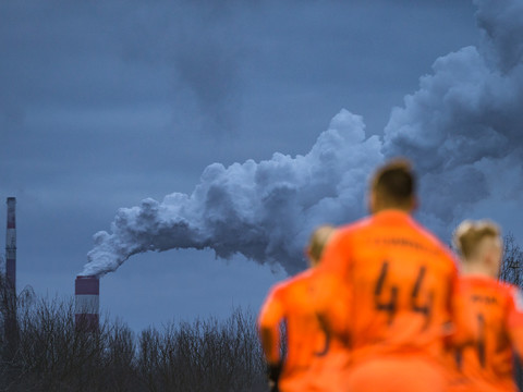
<path id="1" fill-rule="evenodd" d="M 498 226 L 464 221 L 454 234 L 462 256 L 457 292 L 457 373 L 451 391 L 518 391 L 513 351 L 523 351 L 523 297 L 518 287 L 497 280 L 502 260 Z"/>

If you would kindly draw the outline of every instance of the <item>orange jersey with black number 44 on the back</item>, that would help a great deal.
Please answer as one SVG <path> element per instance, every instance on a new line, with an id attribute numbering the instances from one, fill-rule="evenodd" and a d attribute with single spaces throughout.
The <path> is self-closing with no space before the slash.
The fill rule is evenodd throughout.
<path id="1" fill-rule="evenodd" d="M 450 250 L 408 213 L 385 210 L 339 229 L 318 268 L 317 290 L 323 296 L 316 306 L 321 314 L 329 311 L 330 298 L 339 297 L 338 287 L 349 287 L 344 298 L 348 328 L 340 326 L 336 313 L 329 324 L 346 331 L 354 369 L 403 355 L 425 358 L 440 369 L 457 267 Z M 364 385 L 361 367 L 357 369 L 356 383 Z M 409 367 L 404 369 L 409 375 L 400 375 L 401 369 L 394 373 L 404 379 L 403 384 L 409 383 L 409 376 L 416 376 Z M 442 370 L 440 373 L 443 377 Z M 381 376 L 387 375 L 366 373 L 374 379 Z M 403 387 L 400 382 L 390 390 Z M 353 383 L 351 388 L 365 389 Z"/>

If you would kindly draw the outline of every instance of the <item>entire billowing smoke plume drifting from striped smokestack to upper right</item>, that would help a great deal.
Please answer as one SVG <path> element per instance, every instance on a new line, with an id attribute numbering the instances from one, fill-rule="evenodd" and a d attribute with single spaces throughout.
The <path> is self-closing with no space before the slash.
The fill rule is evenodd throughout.
<path id="1" fill-rule="evenodd" d="M 342 110 L 305 156 L 210 164 L 191 195 L 120 209 L 111 233 L 95 234 L 82 274 L 102 275 L 134 254 L 172 248 L 240 253 L 296 272 L 311 230 L 361 217 L 368 175 L 393 156 L 414 161 L 422 221 L 448 234 L 489 196 L 499 173 L 523 160 L 523 4 L 475 3 L 481 46 L 437 59 L 419 89 L 392 110 L 382 139 L 367 138 L 362 118 Z"/>

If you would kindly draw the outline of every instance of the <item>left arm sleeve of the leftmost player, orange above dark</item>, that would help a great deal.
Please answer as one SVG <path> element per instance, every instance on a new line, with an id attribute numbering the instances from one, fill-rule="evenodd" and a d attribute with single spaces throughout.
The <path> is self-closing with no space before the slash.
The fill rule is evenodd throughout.
<path id="1" fill-rule="evenodd" d="M 258 333 L 269 364 L 280 362 L 280 322 L 284 317 L 281 289 L 271 290 L 258 316 Z"/>

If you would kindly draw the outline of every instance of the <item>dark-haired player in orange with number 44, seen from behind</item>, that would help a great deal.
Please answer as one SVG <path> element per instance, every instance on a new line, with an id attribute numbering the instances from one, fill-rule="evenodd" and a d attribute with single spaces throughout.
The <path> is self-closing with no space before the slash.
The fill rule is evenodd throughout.
<path id="1" fill-rule="evenodd" d="M 409 161 L 375 173 L 368 203 L 370 217 L 332 235 L 316 280 L 318 313 L 332 334 L 350 340 L 344 390 L 445 391 L 454 258 L 411 218 L 417 201 Z M 340 320 L 331 303 L 345 289 Z"/>

